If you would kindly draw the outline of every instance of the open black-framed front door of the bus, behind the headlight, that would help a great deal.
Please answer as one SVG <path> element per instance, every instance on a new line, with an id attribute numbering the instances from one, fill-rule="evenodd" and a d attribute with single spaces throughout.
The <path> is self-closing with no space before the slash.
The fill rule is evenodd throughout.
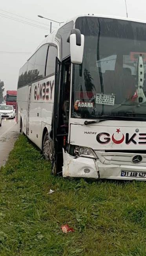
<path id="1" fill-rule="evenodd" d="M 53 108 L 53 161 L 54 173 L 61 173 L 63 166 L 63 152 L 68 139 L 69 95 L 70 95 L 70 63 L 61 63 L 56 59 L 55 92 Z"/>

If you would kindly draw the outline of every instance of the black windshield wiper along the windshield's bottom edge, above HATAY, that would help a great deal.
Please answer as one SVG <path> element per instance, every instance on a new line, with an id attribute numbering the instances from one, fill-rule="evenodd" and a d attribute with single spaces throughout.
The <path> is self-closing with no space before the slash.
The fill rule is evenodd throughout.
<path id="1" fill-rule="evenodd" d="M 102 116 L 103 117 L 103 116 Z M 121 117 L 121 116 L 119 116 L 119 117 L 112 117 L 112 116 L 109 116 L 109 118 L 106 118 L 106 119 L 98 119 L 98 120 L 94 120 L 94 121 L 85 121 L 84 122 L 84 124 L 85 125 L 88 125 L 88 124 L 94 124 L 94 123 L 99 123 L 99 122 L 102 122 L 102 121 L 108 121 L 108 120 L 126 120 L 126 121 L 128 121 L 128 120 L 137 120 L 137 121 L 141 121 L 141 120 L 146 120 L 146 117 Z M 138 119 L 140 119 L 140 120 L 138 120 Z"/>

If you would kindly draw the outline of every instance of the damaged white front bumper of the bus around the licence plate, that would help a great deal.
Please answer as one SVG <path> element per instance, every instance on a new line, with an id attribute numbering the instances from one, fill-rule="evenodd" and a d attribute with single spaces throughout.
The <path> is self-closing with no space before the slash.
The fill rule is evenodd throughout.
<path id="1" fill-rule="evenodd" d="M 144 177 L 127 177 L 121 176 L 122 171 L 127 173 L 144 173 L 146 167 L 144 166 L 131 166 L 131 165 L 107 165 L 101 163 L 100 160 L 92 158 L 78 157 L 69 155 L 63 150 L 62 167 L 63 177 L 78 177 L 78 178 L 94 178 L 94 179 L 114 179 L 114 180 L 141 180 L 146 181 L 146 175 Z"/>

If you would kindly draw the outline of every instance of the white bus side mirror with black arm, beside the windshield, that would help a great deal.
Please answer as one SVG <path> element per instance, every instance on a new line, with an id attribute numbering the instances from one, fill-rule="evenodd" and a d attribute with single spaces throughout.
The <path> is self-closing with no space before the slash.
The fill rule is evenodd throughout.
<path id="1" fill-rule="evenodd" d="M 70 43 L 71 63 L 82 64 L 84 35 L 80 33 L 79 29 L 75 28 L 71 30 L 67 42 Z"/>

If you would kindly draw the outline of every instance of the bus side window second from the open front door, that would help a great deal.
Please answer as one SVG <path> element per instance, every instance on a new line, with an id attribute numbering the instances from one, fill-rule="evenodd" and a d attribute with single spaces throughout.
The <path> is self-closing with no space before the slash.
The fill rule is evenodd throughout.
<path id="1" fill-rule="evenodd" d="M 34 69 L 34 80 L 42 79 L 45 76 L 45 65 L 46 65 L 46 56 L 47 56 L 48 45 L 43 45 L 35 53 L 35 69 Z"/>

